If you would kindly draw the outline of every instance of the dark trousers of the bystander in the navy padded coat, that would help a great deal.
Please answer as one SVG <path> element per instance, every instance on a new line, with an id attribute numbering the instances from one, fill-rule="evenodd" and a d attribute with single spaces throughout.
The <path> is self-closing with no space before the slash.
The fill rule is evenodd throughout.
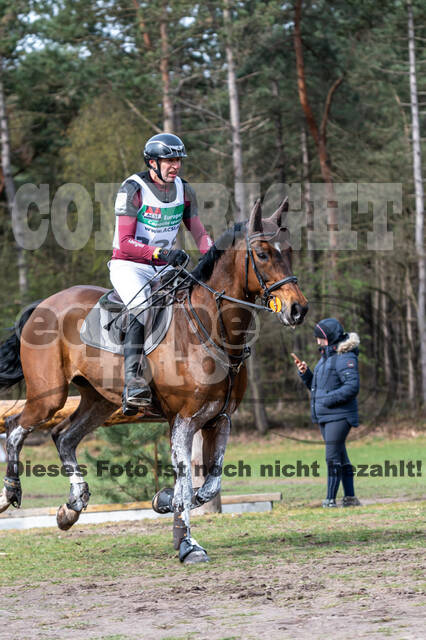
<path id="1" fill-rule="evenodd" d="M 325 442 L 325 459 L 328 468 L 327 498 L 336 499 L 340 480 L 345 496 L 353 496 L 353 469 L 346 451 L 346 437 L 351 430 L 347 420 L 335 420 L 320 424 L 321 435 Z"/>

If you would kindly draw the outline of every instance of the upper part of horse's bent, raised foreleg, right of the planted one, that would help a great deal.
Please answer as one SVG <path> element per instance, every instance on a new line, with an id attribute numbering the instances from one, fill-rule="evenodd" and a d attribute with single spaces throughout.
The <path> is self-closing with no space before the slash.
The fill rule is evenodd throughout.
<path id="1" fill-rule="evenodd" d="M 214 427 L 203 429 L 203 463 L 207 476 L 193 498 L 195 507 L 210 502 L 220 491 L 223 459 L 230 430 L 231 419 L 227 415 L 220 416 Z"/>

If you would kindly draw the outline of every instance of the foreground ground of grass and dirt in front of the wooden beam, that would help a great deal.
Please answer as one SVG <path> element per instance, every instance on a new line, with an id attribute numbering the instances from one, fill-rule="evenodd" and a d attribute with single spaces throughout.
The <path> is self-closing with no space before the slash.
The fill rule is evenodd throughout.
<path id="1" fill-rule="evenodd" d="M 425 507 L 194 518 L 196 566 L 164 520 L 0 534 L 0 638 L 420 639 Z"/>

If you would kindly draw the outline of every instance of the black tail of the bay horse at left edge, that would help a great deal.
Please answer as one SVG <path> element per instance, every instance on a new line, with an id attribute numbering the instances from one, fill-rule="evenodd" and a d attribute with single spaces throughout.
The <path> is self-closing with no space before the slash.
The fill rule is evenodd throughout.
<path id="1" fill-rule="evenodd" d="M 32 302 L 19 316 L 19 320 L 11 327 L 11 335 L 0 344 L 0 390 L 9 389 L 23 379 L 21 365 L 20 340 L 24 324 L 40 304 L 41 300 Z"/>

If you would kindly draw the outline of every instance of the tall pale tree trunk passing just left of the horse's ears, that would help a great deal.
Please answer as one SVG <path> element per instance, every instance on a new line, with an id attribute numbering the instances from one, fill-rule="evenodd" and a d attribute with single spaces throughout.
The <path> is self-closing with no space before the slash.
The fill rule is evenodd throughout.
<path id="1" fill-rule="evenodd" d="M 243 220 L 245 215 L 246 194 L 243 182 L 243 154 L 241 146 L 240 132 L 240 106 L 238 101 L 237 79 L 235 73 L 234 52 L 232 47 L 232 18 L 230 11 L 230 0 L 224 0 L 223 22 L 225 26 L 226 41 L 226 62 L 227 62 L 227 83 L 229 93 L 229 111 L 231 118 L 232 137 L 232 162 L 234 169 L 234 196 L 236 205 L 236 221 Z M 252 355 L 247 365 L 251 397 L 253 401 L 253 412 L 256 429 L 260 433 L 268 430 L 263 397 L 259 386 L 260 370 L 256 361 L 255 350 L 252 348 Z"/>

